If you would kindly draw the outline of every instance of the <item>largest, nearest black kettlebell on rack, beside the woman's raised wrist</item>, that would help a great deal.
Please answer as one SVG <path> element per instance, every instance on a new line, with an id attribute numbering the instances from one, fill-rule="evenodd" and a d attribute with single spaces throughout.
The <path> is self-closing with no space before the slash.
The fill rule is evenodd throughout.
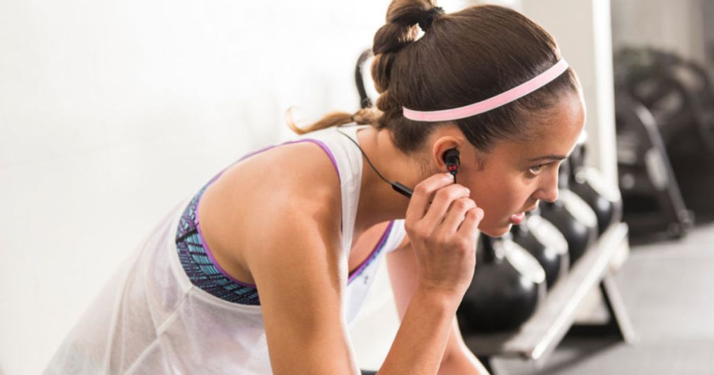
<path id="1" fill-rule="evenodd" d="M 473 281 L 457 311 L 463 331 L 516 329 L 545 298 L 545 271 L 513 242 L 511 234 L 493 239 L 481 234 Z"/>

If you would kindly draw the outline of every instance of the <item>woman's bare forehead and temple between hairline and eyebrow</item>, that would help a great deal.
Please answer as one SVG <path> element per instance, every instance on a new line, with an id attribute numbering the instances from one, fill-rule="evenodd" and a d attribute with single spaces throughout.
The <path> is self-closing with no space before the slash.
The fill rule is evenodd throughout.
<path id="1" fill-rule="evenodd" d="M 528 124 L 528 138 L 498 141 L 492 154 L 508 154 L 511 159 L 528 161 L 540 156 L 568 156 L 585 124 L 585 106 L 578 96 L 570 96 Z M 515 156 L 515 157 L 514 157 Z"/>

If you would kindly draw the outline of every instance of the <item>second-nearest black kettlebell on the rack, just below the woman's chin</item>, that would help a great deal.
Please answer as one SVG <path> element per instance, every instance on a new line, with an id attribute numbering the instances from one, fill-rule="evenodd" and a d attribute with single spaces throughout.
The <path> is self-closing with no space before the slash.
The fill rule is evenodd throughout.
<path id="1" fill-rule="evenodd" d="M 511 233 L 513 241 L 523 246 L 543 267 L 548 289 L 568 272 L 568 241 L 553 224 L 540 216 L 538 210 L 528 213 L 523 223 L 511 228 Z"/>

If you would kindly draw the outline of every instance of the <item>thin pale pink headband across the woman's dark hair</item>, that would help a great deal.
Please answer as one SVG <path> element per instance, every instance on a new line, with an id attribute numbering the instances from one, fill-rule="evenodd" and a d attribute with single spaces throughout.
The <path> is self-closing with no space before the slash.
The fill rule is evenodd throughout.
<path id="1" fill-rule="evenodd" d="M 531 94 L 533 91 L 548 84 L 548 82 L 553 81 L 553 79 L 558 78 L 558 76 L 563 74 L 566 70 L 568 70 L 568 63 L 565 59 L 560 59 L 555 65 L 551 66 L 548 70 L 543 71 L 543 73 L 538 76 L 535 76 L 530 81 L 486 100 L 478 101 L 477 103 L 469 104 L 468 106 L 441 109 L 439 111 L 414 111 L 413 109 L 402 107 L 403 114 L 407 119 L 414 121 L 437 122 L 465 119 L 466 117 L 476 116 L 477 114 L 483 114 L 483 112 L 491 111 L 491 109 L 496 109 L 504 104 L 511 103 L 511 101 L 515 101 L 516 99 L 520 99 L 523 96 Z"/>

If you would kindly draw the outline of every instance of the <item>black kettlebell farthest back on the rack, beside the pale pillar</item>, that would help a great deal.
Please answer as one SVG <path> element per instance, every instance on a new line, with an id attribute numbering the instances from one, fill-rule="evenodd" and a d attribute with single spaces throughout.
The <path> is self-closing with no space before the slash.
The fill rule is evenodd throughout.
<path id="1" fill-rule="evenodd" d="M 623 203 L 620 191 L 605 183 L 600 171 L 585 166 L 585 146 L 579 144 L 568 158 L 570 162 L 570 190 L 578 194 L 595 211 L 598 235 L 610 224 L 622 219 Z"/>

